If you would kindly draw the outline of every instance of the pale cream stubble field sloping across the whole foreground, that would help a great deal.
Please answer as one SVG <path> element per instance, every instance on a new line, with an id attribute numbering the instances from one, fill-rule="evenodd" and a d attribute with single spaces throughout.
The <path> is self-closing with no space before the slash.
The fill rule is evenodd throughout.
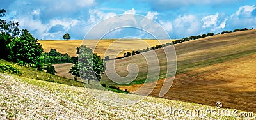
<path id="1" fill-rule="evenodd" d="M 207 110 L 215 107 L 153 97 L 147 97 L 129 107 L 111 107 L 93 99 L 83 87 L 3 73 L 0 73 L 0 84 L 1 119 L 255 119 L 255 117 L 223 117 L 211 116 L 211 114 L 204 117 L 166 116 L 166 110 L 170 107 L 182 110 Z M 95 89 L 92 91 L 108 95 L 106 91 Z M 125 97 L 127 94 L 120 96 Z M 136 95 L 132 96 L 136 98 Z"/>

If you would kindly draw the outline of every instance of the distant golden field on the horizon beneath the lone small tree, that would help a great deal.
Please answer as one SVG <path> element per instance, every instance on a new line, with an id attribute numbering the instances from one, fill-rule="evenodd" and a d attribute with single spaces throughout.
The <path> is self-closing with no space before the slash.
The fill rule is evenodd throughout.
<path id="1" fill-rule="evenodd" d="M 160 41 L 160 43 L 159 43 Z M 161 43 L 168 43 L 171 40 L 42 40 L 39 43 L 42 44 L 44 52 L 49 52 L 51 49 L 56 49 L 61 54 L 69 54 L 70 56 L 76 55 L 76 47 L 84 45 L 95 48 L 95 53 L 104 58 L 106 49 L 106 56 L 110 58 L 122 57 L 124 52 L 132 52 L 132 50 L 146 49 L 159 45 Z M 120 52 L 120 53 L 119 53 Z"/>

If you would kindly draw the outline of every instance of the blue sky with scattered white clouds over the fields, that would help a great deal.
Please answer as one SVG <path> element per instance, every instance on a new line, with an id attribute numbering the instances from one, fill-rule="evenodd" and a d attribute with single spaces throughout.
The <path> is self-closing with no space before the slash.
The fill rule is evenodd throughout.
<path id="1" fill-rule="evenodd" d="M 115 15 L 124 19 L 124 14 L 143 15 L 154 20 L 172 39 L 237 28 L 251 29 L 256 28 L 255 5 L 255 0 L 0 0 L 0 9 L 7 11 L 6 17 L 1 19 L 18 21 L 20 29 L 28 29 L 35 38 L 42 40 L 63 39 L 65 33 L 69 33 L 71 39 L 83 39 L 100 21 Z M 127 26 L 134 24 L 128 20 L 138 22 L 132 17 L 122 22 Z M 115 24 L 118 24 L 117 19 L 101 29 Z M 154 29 L 149 22 L 144 24 Z M 122 38 L 124 34 L 131 36 L 134 33 L 140 38 L 149 37 L 138 29 L 120 29 L 108 38 Z"/>

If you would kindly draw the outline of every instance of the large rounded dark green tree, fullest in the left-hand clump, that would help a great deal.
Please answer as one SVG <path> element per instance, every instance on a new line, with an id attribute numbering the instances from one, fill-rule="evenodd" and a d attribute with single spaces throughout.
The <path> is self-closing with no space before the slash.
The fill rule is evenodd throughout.
<path id="1" fill-rule="evenodd" d="M 23 66 L 35 65 L 40 61 L 43 52 L 42 45 L 28 30 L 23 29 L 20 37 L 14 38 L 12 44 L 12 61 L 23 64 Z"/>

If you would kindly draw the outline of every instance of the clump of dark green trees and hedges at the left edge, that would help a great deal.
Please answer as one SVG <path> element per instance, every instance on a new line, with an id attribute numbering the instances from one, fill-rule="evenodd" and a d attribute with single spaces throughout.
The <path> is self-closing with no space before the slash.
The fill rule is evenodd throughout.
<path id="1" fill-rule="evenodd" d="M 6 17 L 6 10 L 0 10 L 0 17 Z M 52 64 L 71 63 L 72 57 L 60 54 L 56 49 L 43 53 L 42 45 L 27 29 L 19 29 L 19 22 L 0 19 L 0 59 L 37 68 L 39 71 L 55 74 Z M 74 59 L 74 58 L 73 58 Z"/>

